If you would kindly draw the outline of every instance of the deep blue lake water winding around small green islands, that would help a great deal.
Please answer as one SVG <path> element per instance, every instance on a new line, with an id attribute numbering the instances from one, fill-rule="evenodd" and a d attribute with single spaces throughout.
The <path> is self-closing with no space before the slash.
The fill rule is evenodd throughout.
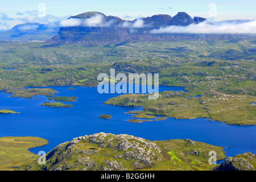
<path id="1" fill-rule="evenodd" d="M 46 146 L 31 148 L 30 151 L 50 151 L 58 144 L 73 138 L 94 133 L 130 134 L 149 140 L 192 139 L 224 147 L 226 156 L 244 152 L 256 154 L 256 126 L 234 126 L 224 122 L 210 121 L 207 118 L 175 119 L 165 121 L 131 123 L 127 120 L 133 114 L 127 111 L 142 110 L 142 107 L 104 105 L 103 102 L 119 94 L 100 94 L 97 88 L 73 86 L 52 86 L 60 93 L 57 96 L 79 97 L 71 108 L 40 106 L 48 97 L 39 99 L 9 97 L 11 94 L 0 92 L 0 109 L 11 109 L 20 114 L 0 114 L 0 137 L 31 136 L 42 137 L 49 143 Z M 179 87 L 159 86 L 163 90 L 183 90 Z M 111 119 L 98 118 L 111 114 Z M 229 147 L 231 146 L 231 147 Z"/>

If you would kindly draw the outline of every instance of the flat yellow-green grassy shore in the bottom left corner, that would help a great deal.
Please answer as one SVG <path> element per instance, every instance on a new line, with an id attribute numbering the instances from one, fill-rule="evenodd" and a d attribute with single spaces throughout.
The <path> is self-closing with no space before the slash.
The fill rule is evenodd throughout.
<path id="1" fill-rule="evenodd" d="M 39 137 L 1 137 L 0 171 L 23 170 L 21 167 L 38 158 L 28 148 L 46 145 L 48 141 Z"/>

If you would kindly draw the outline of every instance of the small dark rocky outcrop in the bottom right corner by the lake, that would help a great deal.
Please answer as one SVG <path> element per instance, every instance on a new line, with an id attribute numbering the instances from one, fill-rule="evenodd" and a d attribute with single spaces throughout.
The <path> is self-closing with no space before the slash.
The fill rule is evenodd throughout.
<path id="1" fill-rule="evenodd" d="M 251 152 L 227 158 L 223 163 L 214 168 L 216 171 L 255 171 L 256 156 Z"/>

